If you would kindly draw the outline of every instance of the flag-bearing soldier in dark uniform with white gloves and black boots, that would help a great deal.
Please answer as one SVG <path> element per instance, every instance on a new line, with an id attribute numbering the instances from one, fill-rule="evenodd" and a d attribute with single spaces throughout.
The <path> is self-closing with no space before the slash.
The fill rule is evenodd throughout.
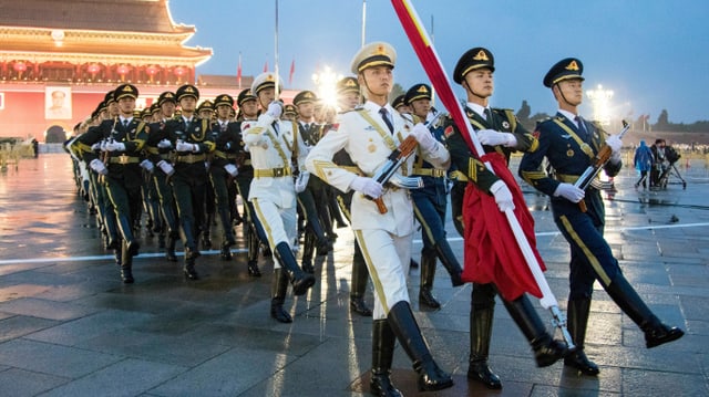
<path id="1" fill-rule="evenodd" d="M 467 97 L 465 113 L 485 154 L 502 156 L 507 164 L 512 152 L 534 150 L 537 147 L 537 142 L 522 127 L 512 111 L 489 106 L 490 96 L 494 90 L 494 71 L 495 64 L 492 53 L 483 48 L 474 48 L 466 51 L 458 61 L 453 80 L 465 88 Z M 446 130 L 446 142 L 452 160 L 469 180 L 467 189 L 480 189 L 494 196 L 501 211 L 506 208 L 505 206 L 514 208 L 512 194 L 507 186 L 489 171 L 477 157 L 472 155 L 458 128 Z M 472 213 L 474 210 L 473 207 L 460 210 L 461 213 L 467 212 L 465 228 L 470 228 L 470 230 L 474 230 L 475 215 Z M 465 238 L 467 239 L 472 234 L 466 233 Z M 483 265 L 496 264 L 483 263 Z M 470 312 L 471 351 L 467 377 L 482 382 L 493 389 L 502 387 L 500 377 L 487 366 L 497 288 L 502 290 L 505 285 L 473 283 Z M 515 299 L 501 297 L 512 318 L 530 341 L 540 367 L 552 365 L 566 354 L 566 345 L 552 338 L 524 293 Z"/>

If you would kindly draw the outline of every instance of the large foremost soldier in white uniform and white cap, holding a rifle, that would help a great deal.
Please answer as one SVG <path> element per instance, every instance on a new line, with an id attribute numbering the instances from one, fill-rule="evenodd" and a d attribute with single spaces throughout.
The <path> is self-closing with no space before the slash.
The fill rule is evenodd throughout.
<path id="1" fill-rule="evenodd" d="M 339 125 L 310 150 L 306 165 L 310 173 L 342 190 L 356 190 L 352 198 L 352 229 L 374 284 L 372 332 L 372 377 L 370 393 L 398 396 L 390 379 L 397 338 L 419 374 L 420 390 L 439 390 L 453 385 L 449 374 L 439 368 L 411 312 L 407 273 L 413 238 L 413 207 L 407 189 L 382 186 L 371 178 L 387 157 L 409 135 L 413 135 L 422 156 L 436 167 L 446 169 L 450 155 L 423 124 L 407 122 L 388 104 L 393 86 L 394 49 L 383 42 L 363 46 L 352 60 L 367 103 L 340 115 Z M 367 177 L 338 167 L 332 156 L 345 149 Z M 413 156 L 397 170 L 411 174 Z M 388 209 L 380 213 L 366 196 L 381 197 Z"/>

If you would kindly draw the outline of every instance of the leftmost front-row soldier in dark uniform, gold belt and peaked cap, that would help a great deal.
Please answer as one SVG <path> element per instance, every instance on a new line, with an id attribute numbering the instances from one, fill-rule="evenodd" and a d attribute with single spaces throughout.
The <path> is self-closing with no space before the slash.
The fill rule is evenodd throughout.
<path id="1" fill-rule="evenodd" d="M 89 166 L 105 181 L 107 197 L 111 200 L 119 230 L 122 237 L 121 278 L 124 283 L 134 282 L 133 257 L 137 255 L 140 243 L 133 236 L 133 222 L 140 213 L 142 166 L 141 152 L 147 139 L 148 127 L 144 122 L 134 119 L 135 100 L 138 91 L 132 84 L 120 85 L 113 92 L 120 115 L 106 119 L 96 128 L 79 138 L 81 144 L 91 147 L 104 138 L 102 157 L 93 152 L 84 153 Z"/>

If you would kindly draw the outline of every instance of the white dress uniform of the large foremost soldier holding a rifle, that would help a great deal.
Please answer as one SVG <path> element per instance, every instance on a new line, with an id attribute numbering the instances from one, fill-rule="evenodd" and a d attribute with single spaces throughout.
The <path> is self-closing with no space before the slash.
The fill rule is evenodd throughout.
<path id="1" fill-rule="evenodd" d="M 361 109 L 340 115 L 339 124 L 310 149 L 306 159 L 308 170 L 336 188 L 349 191 L 350 184 L 358 175 L 332 163 L 332 155 L 345 149 L 360 170 L 369 177 L 373 176 L 413 129 L 413 124 L 393 107 L 384 107 L 391 115 L 393 134 L 390 134 L 379 114 L 381 106 L 367 102 Z M 422 155 L 435 167 L 448 167 L 450 155 L 440 143 Z M 413 157 L 397 174 L 410 175 Z M 382 199 L 387 213 L 380 213 L 377 205 L 359 192 L 352 197 L 351 207 L 352 229 L 374 283 L 374 320 L 386 318 L 389 309 L 397 302 L 409 302 L 407 274 L 414 232 L 409 191 L 386 186 Z"/>

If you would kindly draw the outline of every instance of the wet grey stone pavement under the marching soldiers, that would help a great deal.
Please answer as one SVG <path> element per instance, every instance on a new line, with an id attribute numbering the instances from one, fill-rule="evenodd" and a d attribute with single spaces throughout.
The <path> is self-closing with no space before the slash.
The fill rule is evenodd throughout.
<path id="1" fill-rule="evenodd" d="M 70 173 L 69 156 L 43 154 L 0 174 L 0 396 L 369 395 L 371 320 L 348 310 L 349 230 L 338 229 L 335 252 L 320 257 L 316 286 L 288 296 L 295 322 L 279 324 L 268 315 L 270 259 L 260 262 L 264 276 L 250 279 L 240 247 L 230 262 L 207 251 L 198 259 L 202 280 L 191 282 L 181 264 L 162 259 L 155 238 L 143 237 L 136 283 L 123 285 Z M 490 391 L 465 378 L 471 288 L 451 288 L 439 267 L 434 293 L 443 307 L 412 303 L 455 387 L 421 395 L 709 395 L 709 175 L 703 164 L 682 175 L 686 190 L 636 191 L 626 168 L 606 202 L 606 234 L 630 282 L 664 321 L 687 331 L 684 338 L 646 349 L 641 332 L 596 284 L 586 353 L 600 375 L 578 376 L 561 363 L 536 368 L 499 304 L 490 362 L 504 388 Z M 525 189 L 546 278 L 565 309 L 567 244 L 546 199 Z M 462 241 L 448 230 L 462 259 Z M 420 240 L 414 247 L 418 259 Z M 410 285 L 418 296 L 418 270 Z M 400 347 L 394 358 L 397 386 L 417 395 Z"/>

